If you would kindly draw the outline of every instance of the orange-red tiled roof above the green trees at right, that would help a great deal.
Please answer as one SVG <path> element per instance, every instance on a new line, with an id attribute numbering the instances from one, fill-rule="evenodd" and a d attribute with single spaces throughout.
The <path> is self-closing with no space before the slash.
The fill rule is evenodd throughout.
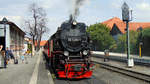
<path id="1" fill-rule="evenodd" d="M 119 28 L 119 30 L 122 33 L 125 33 L 126 24 L 118 17 L 114 17 L 112 19 L 104 21 L 104 22 L 102 22 L 102 24 L 106 24 L 110 29 L 113 28 L 114 24 L 116 24 L 116 26 Z M 148 27 L 150 27 L 150 22 L 130 22 L 129 23 L 129 30 L 136 31 L 140 27 L 142 27 L 143 29 L 148 28 Z"/>

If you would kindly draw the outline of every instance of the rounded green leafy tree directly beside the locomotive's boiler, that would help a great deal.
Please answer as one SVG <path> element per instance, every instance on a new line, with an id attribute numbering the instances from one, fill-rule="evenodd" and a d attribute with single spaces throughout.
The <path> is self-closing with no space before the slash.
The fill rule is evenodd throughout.
<path id="1" fill-rule="evenodd" d="M 87 28 L 93 41 L 94 46 L 98 49 L 104 51 L 105 49 L 113 49 L 115 47 L 115 40 L 110 35 L 110 28 L 104 24 L 94 24 Z"/>

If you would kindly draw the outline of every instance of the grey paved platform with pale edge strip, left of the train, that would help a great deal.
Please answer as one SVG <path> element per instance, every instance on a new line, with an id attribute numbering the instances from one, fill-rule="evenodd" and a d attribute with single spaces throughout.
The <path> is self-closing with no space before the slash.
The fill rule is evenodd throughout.
<path id="1" fill-rule="evenodd" d="M 27 56 L 27 61 L 19 58 L 18 64 L 12 62 L 6 69 L 0 68 L 0 84 L 54 84 L 41 51 Z"/>

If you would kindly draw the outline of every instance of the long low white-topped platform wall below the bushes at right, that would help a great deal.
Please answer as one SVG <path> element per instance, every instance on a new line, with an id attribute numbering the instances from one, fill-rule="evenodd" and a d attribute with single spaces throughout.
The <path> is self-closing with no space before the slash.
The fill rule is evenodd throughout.
<path id="1" fill-rule="evenodd" d="M 104 58 L 105 55 L 104 52 L 92 51 L 92 56 L 97 58 Z M 120 62 L 128 61 L 127 54 L 124 53 L 109 52 L 109 58 L 111 60 L 120 61 Z M 130 58 L 134 60 L 135 64 L 142 65 L 142 66 L 143 65 L 150 66 L 150 56 L 139 57 L 138 55 L 130 55 Z"/>

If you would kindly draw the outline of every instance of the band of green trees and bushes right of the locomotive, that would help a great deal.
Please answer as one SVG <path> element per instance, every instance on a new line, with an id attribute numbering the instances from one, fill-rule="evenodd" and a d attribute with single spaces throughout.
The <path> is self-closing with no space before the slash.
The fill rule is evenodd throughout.
<path id="1" fill-rule="evenodd" d="M 90 33 L 91 40 L 93 40 L 93 44 L 98 47 L 98 50 L 111 49 L 111 51 L 120 53 L 127 52 L 126 33 L 118 35 L 118 39 L 115 41 L 110 35 L 110 28 L 103 24 L 91 25 L 87 28 L 87 32 Z M 142 32 L 130 31 L 131 54 L 139 53 L 140 41 L 143 42 L 142 54 L 150 55 L 150 28 L 145 28 Z"/>

